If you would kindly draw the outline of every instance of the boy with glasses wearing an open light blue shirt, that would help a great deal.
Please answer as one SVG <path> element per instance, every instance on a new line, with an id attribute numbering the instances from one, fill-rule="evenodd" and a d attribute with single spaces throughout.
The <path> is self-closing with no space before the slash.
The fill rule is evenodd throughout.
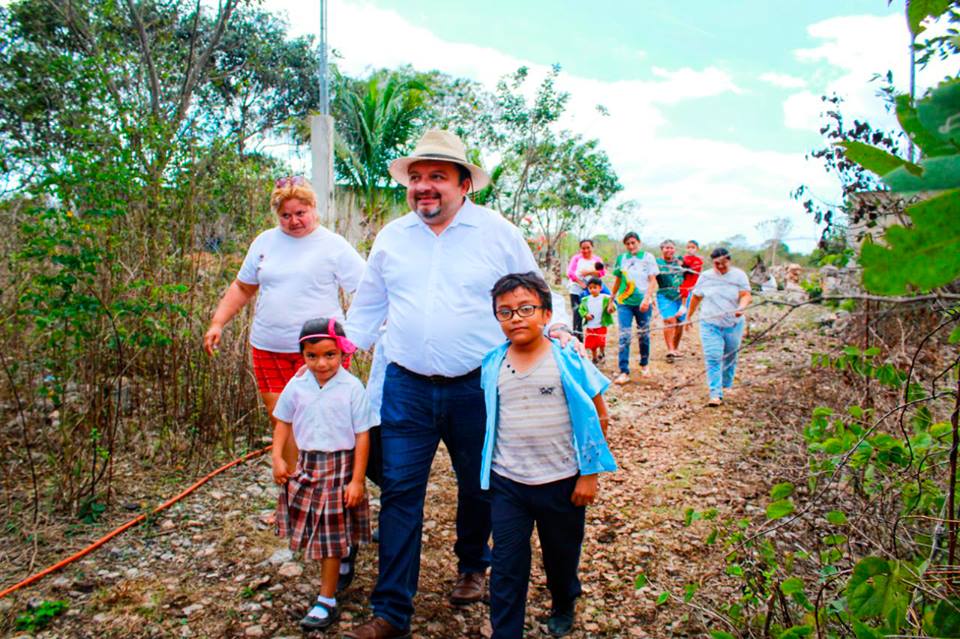
<path id="1" fill-rule="evenodd" d="M 552 598 L 547 628 L 562 637 L 573 629 L 581 592 L 586 506 L 597 496 L 597 473 L 617 467 L 601 396 L 610 382 L 573 346 L 561 349 L 544 336 L 552 302 L 539 275 L 506 275 L 491 295 L 509 340 L 487 353 L 480 375 L 487 409 L 480 485 L 490 490 L 493 524 L 493 639 L 523 635 L 534 524 Z"/>

